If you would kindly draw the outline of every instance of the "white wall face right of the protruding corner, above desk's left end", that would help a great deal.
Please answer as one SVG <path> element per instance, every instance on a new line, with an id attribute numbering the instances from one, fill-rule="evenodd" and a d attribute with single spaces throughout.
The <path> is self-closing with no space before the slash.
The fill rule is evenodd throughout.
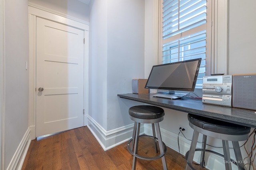
<path id="1" fill-rule="evenodd" d="M 133 78 L 144 78 L 144 6 L 144 0 L 108 0 L 107 131 L 131 122 L 117 94 L 131 92 Z"/>

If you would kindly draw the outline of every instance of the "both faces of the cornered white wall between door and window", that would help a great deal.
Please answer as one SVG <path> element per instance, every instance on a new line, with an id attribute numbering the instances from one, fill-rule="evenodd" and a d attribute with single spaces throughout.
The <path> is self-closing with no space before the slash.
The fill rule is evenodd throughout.
<path id="1" fill-rule="evenodd" d="M 92 0 L 89 39 L 89 115 L 105 131 L 129 125 L 134 102 L 117 94 L 144 78 L 144 0 Z"/>

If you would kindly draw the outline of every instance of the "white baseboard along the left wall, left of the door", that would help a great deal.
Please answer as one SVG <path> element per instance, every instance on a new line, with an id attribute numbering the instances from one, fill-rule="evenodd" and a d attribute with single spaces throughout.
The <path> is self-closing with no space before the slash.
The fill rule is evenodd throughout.
<path id="1" fill-rule="evenodd" d="M 20 145 L 14 153 L 12 160 L 7 167 L 7 170 L 21 170 L 26 154 L 28 152 L 30 142 L 30 128 L 28 128 L 20 142 Z"/>

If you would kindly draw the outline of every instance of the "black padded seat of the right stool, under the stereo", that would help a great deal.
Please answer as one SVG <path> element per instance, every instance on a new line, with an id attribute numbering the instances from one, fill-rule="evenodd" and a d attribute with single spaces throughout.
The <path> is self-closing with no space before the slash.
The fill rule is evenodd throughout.
<path id="1" fill-rule="evenodd" d="M 188 121 L 202 129 L 226 135 L 244 135 L 250 133 L 250 127 L 225 121 L 188 114 Z"/>

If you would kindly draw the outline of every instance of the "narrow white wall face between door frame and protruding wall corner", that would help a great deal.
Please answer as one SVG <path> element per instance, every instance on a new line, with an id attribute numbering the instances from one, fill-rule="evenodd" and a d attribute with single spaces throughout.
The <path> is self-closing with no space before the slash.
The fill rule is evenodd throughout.
<path id="1" fill-rule="evenodd" d="M 107 129 L 107 1 L 90 2 L 89 115 Z"/>

